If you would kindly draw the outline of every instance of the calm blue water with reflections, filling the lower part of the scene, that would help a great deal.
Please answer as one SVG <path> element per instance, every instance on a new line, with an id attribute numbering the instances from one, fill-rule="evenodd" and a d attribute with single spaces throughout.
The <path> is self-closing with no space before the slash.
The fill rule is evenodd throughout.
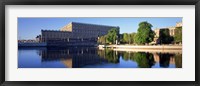
<path id="1" fill-rule="evenodd" d="M 19 48 L 18 68 L 182 68 L 182 53 Z"/>

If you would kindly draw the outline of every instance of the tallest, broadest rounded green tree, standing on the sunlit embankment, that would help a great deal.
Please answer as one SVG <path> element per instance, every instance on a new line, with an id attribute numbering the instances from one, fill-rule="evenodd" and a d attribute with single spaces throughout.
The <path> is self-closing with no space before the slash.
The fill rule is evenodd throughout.
<path id="1" fill-rule="evenodd" d="M 151 27 L 153 26 L 146 21 L 139 23 L 137 34 L 134 37 L 136 44 L 145 44 L 153 41 L 155 33 L 151 30 Z"/>

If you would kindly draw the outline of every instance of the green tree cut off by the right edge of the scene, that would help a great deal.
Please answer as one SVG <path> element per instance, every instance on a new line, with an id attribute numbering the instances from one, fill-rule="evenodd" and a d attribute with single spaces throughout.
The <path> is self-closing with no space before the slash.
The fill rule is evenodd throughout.
<path id="1" fill-rule="evenodd" d="M 175 28 L 175 35 L 174 35 L 175 42 L 182 42 L 182 27 Z"/>

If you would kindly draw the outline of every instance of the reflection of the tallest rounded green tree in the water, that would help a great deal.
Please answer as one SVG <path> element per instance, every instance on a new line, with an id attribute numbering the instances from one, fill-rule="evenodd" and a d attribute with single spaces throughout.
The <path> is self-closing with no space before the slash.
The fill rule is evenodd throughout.
<path id="1" fill-rule="evenodd" d="M 140 68 L 151 68 L 155 64 L 153 54 L 151 53 L 135 53 L 134 60 L 137 62 L 138 67 Z"/>

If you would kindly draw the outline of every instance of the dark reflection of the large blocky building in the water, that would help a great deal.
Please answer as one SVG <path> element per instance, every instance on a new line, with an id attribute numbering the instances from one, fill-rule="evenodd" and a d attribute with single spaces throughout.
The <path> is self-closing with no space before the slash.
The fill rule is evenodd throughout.
<path id="1" fill-rule="evenodd" d="M 80 68 L 107 62 L 98 56 L 96 48 L 47 49 L 41 52 L 42 61 L 61 61 L 68 68 Z"/>

